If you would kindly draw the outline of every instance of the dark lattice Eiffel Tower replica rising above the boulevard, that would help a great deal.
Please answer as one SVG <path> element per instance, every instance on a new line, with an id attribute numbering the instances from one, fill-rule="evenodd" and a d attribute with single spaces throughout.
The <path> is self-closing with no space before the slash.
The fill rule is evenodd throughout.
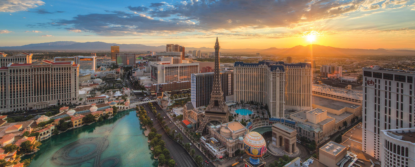
<path id="1" fill-rule="evenodd" d="M 219 41 L 216 37 L 215 43 L 215 72 L 213 75 L 212 93 L 210 93 L 210 102 L 205 110 L 205 116 L 196 132 L 202 132 L 206 124 L 210 121 L 221 122 L 222 124 L 228 122 L 229 111 L 228 106 L 223 99 L 222 86 L 220 84 L 220 69 L 219 69 Z"/>

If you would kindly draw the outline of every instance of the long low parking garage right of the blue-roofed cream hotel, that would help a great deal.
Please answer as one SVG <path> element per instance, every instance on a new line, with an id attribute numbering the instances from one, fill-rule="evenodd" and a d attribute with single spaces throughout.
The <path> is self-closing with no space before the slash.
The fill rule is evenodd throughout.
<path id="1" fill-rule="evenodd" d="M 342 88 L 335 88 L 332 86 L 325 86 L 319 84 L 312 84 L 312 91 L 320 92 L 320 93 L 327 93 L 330 95 L 336 95 L 345 98 L 352 98 L 356 100 L 363 99 L 363 92 L 362 91 L 352 91 Z"/>

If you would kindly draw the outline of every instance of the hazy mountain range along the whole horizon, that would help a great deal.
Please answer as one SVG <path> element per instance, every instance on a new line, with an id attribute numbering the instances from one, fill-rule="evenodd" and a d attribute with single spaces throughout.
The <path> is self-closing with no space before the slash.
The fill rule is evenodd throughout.
<path id="1" fill-rule="evenodd" d="M 142 44 L 117 44 L 105 42 L 85 42 L 79 43 L 74 41 L 56 41 L 48 43 L 33 43 L 22 46 L 4 46 L 0 50 L 95 50 L 109 51 L 111 45 L 119 45 L 120 51 L 164 51 L 165 45 L 147 46 Z M 192 48 L 186 47 L 188 50 L 201 50 L 202 52 L 213 52 L 214 48 Z M 261 53 L 261 54 L 281 54 L 281 55 L 356 55 L 356 54 L 372 54 L 372 55 L 415 55 L 414 48 L 379 48 L 379 49 L 350 49 L 350 48 L 334 48 L 323 45 L 297 45 L 293 48 L 268 48 L 268 49 L 220 49 L 224 53 Z"/>

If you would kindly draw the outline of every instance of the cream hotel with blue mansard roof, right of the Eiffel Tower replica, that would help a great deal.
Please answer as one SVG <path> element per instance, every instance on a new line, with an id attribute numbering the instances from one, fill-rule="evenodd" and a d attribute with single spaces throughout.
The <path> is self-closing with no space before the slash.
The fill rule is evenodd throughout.
<path id="1" fill-rule="evenodd" d="M 310 63 L 235 62 L 234 77 L 235 101 L 268 105 L 272 118 L 284 117 L 286 109 L 312 109 Z"/>

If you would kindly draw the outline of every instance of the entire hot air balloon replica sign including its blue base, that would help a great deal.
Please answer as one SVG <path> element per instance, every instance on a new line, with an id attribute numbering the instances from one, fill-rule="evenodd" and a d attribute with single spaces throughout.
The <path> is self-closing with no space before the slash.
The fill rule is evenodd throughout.
<path id="1" fill-rule="evenodd" d="M 266 153 L 266 142 L 261 134 L 251 131 L 245 135 L 244 150 L 250 156 L 244 160 L 245 167 L 265 167 L 265 162 L 259 159 Z"/>

